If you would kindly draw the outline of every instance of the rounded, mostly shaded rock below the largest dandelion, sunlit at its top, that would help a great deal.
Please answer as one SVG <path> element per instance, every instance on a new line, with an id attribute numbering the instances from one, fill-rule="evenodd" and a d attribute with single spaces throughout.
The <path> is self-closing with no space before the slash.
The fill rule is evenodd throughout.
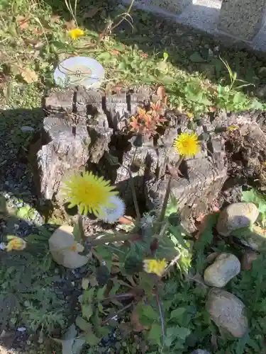
<path id="1" fill-rule="evenodd" d="M 74 236 L 72 234 L 73 227 L 69 225 L 62 225 L 49 239 L 49 249 L 53 260 L 66 268 L 75 269 L 82 267 L 88 263 L 91 258 L 91 253 L 87 256 L 82 256 L 76 251 L 70 250 L 74 244 Z"/>

